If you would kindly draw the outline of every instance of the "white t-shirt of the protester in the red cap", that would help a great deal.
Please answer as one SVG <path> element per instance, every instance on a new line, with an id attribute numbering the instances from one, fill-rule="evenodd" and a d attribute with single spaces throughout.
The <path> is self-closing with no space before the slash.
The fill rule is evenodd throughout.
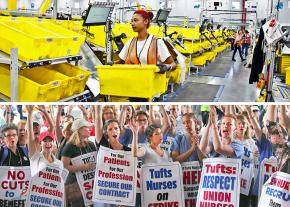
<path id="1" fill-rule="evenodd" d="M 41 152 L 35 152 L 34 155 L 30 158 L 31 176 L 33 177 L 40 170 L 44 169 L 48 164 L 57 166 L 62 170 L 63 163 L 60 160 L 56 159 L 54 155 L 52 156 L 53 156 L 53 163 L 49 163 Z"/>

